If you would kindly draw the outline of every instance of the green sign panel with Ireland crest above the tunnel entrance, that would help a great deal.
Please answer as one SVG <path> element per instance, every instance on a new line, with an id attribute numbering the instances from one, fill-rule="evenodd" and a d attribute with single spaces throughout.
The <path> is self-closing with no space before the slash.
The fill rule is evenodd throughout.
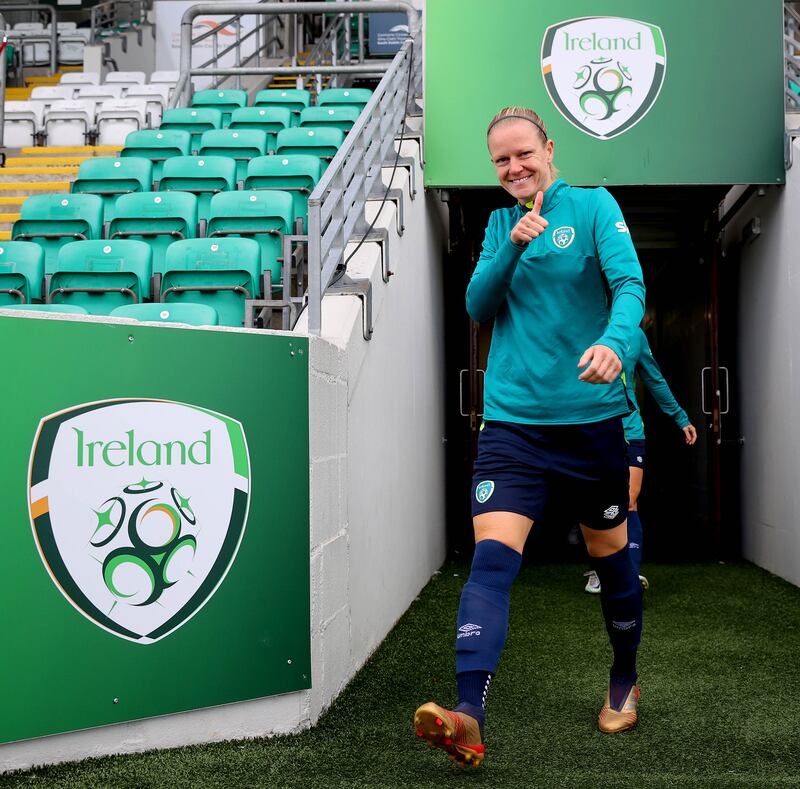
<path id="1" fill-rule="evenodd" d="M 428 3 L 425 183 L 496 185 L 486 127 L 532 107 L 570 183 L 782 183 L 783 3 Z"/>

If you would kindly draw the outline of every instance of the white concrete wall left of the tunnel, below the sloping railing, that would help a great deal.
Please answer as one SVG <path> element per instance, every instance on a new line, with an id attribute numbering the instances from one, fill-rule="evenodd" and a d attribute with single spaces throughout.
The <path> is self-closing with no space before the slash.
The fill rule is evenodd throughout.
<path id="1" fill-rule="evenodd" d="M 389 230 L 394 274 L 383 282 L 374 243 L 364 244 L 349 267 L 351 276 L 372 280 L 374 336 L 362 337 L 356 297 L 329 295 L 323 337 L 310 343 L 312 688 L 0 745 L 0 772 L 307 728 L 441 565 L 442 206 L 422 190 L 416 144 L 405 143 L 403 153 L 416 157 L 418 185 L 411 200 L 407 171 L 398 169 L 405 232 L 396 231 L 391 202 L 376 224 Z M 367 205 L 368 221 L 377 207 Z"/>

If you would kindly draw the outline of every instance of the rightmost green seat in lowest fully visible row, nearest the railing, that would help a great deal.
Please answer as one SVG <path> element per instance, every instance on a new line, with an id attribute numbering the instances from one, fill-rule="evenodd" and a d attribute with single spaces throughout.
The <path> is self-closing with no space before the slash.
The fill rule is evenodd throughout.
<path id="1" fill-rule="evenodd" d="M 245 299 L 260 295 L 258 244 L 250 238 L 196 238 L 167 250 L 161 301 L 199 302 L 222 326 L 242 326 Z"/>

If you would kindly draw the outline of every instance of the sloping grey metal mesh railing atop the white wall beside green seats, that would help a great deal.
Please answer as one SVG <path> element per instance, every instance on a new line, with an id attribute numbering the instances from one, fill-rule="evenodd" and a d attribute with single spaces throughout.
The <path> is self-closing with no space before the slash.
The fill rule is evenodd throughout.
<path id="1" fill-rule="evenodd" d="M 422 85 L 421 62 L 414 40 L 407 40 L 308 199 L 311 334 L 322 331 L 322 297 L 340 269 L 347 243 L 364 222 L 366 201 L 403 126 L 409 80 L 409 101 Z"/>

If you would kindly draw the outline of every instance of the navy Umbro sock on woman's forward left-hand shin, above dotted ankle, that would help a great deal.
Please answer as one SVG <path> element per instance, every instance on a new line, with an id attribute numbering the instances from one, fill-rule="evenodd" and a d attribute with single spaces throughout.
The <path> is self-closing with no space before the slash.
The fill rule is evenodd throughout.
<path id="1" fill-rule="evenodd" d="M 458 607 L 457 675 L 495 673 L 508 631 L 509 593 L 521 564 L 522 555 L 497 540 L 481 540 L 475 546 Z"/>

